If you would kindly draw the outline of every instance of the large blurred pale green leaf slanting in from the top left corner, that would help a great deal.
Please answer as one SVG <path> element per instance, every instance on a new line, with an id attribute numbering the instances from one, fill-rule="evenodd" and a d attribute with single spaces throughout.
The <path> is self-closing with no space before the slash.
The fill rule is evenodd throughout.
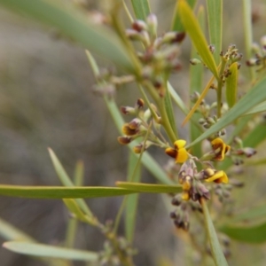
<path id="1" fill-rule="evenodd" d="M 0 0 L 0 4 L 58 29 L 90 51 L 95 51 L 130 73 L 135 72 L 126 49 L 112 31 L 90 22 L 88 15 L 74 4 L 59 0 Z"/>

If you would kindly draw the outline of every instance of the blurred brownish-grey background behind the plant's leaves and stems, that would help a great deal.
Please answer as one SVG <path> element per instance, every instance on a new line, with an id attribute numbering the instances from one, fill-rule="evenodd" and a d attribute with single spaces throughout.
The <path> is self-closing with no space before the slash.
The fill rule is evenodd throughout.
<path id="1" fill-rule="evenodd" d="M 105 10 L 106 1 L 83 2 L 90 12 Z M 159 34 L 162 34 L 169 29 L 176 3 L 170 0 L 151 2 L 153 12 L 158 15 Z M 263 0 L 254 0 L 252 4 L 254 41 L 259 41 L 265 35 L 266 4 Z M 239 51 L 244 52 L 242 1 L 224 0 L 223 8 L 224 49 L 235 43 Z M 129 25 L 129 21 L 126 24 Z M 171 77 L 173 86 L 186 101 L 189 99 L 190 57 L 190 45 L 187 44 L 183 45 L 181 57 L 183 70 Z M 99 66 L 113 67 L 104 59 L 97 59 Z M 243 68 L 245 74 L 245 66 Z M 93 93 L 94 83 L 82 47 L 58 38 L 53 28 L 42 27 L 1 7 L 1 184 L 60 185 L 47 147 L 58 155 L 70 176 L 73 176 L 76 161 L 83 161 L 84 185 L 112 186 L 115 181 L 126 179 L 128 148 L 118 144 L 118 131 L 103 99 Z M 134 106 L 139 94 L 136 87 L 128 86 L 121 88 L 115 97 L 119 106 Z M 177 124 L 180 125 L 183 118 L 176 110 Z M 186 130 L 184 128 L 183 135 Z M 154 150 L 153 154 L 161 165 L 167 162 L 161 151 Z M 145 169 L 142 180 L 154 182 Z M 0 198 L 1 218 L 42 243 L 56 245 L 64 241 L 68 212 L 62 201 Z M 121 198 L 87 201 L 102 222 L 113 220 L 121 204 Z M 173 233 L 174 226 L 168 213 L 160 195 L 140 196 L 134 243 L 139 250 L 136 265 L 157 265 L 162 257 L 168 257 L 176 262 L 175 265 L 185 265 L 180 257 L 184 242 Z M 76 247 L 98 251 L 103 248 L 103 241 L 97 230 L 80 224 Z M 3 242 L 0 237 L 0 243 Z M 243 245 L 241 248 L 250 247 Z M 0 257 L 4 266 L 44 265 L 4 248 L 0 249 Z M 74 262 L 74 265 L 84 264 Z"/>

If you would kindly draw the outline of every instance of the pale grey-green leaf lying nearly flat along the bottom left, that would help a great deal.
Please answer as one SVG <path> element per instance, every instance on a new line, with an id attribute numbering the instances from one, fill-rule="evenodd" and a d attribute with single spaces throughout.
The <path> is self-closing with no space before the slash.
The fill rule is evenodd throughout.
<path id="1" fill-rule="evenodd" d="M 10 241 L 3 244 L 4 248 L 19 254 L 27 254 L 41 257 L 60 258 L 74 261 L 98 261 L 98 254 L 91 251 L 83 251 L 66 247 L 29 243 L 24 241 Z"/>

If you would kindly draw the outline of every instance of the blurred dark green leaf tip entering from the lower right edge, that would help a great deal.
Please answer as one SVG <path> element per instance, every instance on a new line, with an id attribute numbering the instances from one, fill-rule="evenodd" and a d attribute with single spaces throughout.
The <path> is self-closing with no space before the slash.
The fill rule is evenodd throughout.
<path id="1" fill-rule="evenodd" d="M 266 223 L 246 226 L 224 225 L 220 231 L 231 239 L 246 243 L 259 244 L 266 241 Z"/>

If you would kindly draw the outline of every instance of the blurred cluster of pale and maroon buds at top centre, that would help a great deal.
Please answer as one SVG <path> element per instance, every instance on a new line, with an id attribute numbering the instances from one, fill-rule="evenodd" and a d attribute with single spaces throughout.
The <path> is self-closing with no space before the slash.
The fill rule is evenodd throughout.
<path id="1" fill-rule="evenodd" d="M 184 32 L 168 32 L 157 37 L 157 18 L 150 14 L 146 20 L 135 20 L 126 35 L 131 41 L 142 43 L 144 51 L 137 51 L 137 57 L 143 64 L 143 79 L 153 83 L 160 97 L 165 94 L 162 73 L 167 74 L 180 70 L 178 43 L 184 39 Z"/>

